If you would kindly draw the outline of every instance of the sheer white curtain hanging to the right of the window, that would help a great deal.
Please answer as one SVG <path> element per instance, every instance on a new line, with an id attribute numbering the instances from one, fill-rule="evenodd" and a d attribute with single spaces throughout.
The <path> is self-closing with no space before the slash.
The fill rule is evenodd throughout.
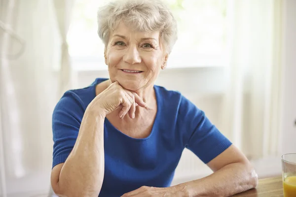
<path id="1" fill-rule="evenodd" d="M 229 0 L 222 131 L 250 159 L 278 152 L 282 0 Z"/>

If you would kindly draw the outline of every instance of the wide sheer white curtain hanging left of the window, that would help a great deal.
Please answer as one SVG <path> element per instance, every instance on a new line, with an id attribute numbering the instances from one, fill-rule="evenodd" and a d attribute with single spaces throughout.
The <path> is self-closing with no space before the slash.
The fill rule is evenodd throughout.
<path id="1" fill-rule="evenodd" d="M 3 197 L 49 189 L 52 110 L 72 82 L 66 44 L 69 2 L 73 0 L 0 0 Z"/>

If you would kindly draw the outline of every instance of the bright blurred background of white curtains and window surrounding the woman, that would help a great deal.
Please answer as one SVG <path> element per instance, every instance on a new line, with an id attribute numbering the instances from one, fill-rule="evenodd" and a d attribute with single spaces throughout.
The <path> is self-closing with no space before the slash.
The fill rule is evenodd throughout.
<path id="1" fill-rule="evenodd" d="M 52 111 L 108 77 L 96 24 L 107 1 L 0 0 L 0 197 L 53 196 Z M 259 178 L 280 176 L 296 152 L 296 1 L 166 1 L 178 40 L 156 84 L 205 111 Z M 185 149 L 172 184 L 211 173 Z"/>

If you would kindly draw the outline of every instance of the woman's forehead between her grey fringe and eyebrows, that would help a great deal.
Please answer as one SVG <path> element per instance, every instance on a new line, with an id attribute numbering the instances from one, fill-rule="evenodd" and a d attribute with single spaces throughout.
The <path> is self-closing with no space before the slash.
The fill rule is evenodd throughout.
<path id="1" fill-rule="evenodd" d="M 126 26 L 124 23 L 120 22 L 117 26 L 117 28 L 111 32 L 111 37 L 113 37 L 115 34 L 117 35 L 123 35 L 127 39 L 130 37 L 134 37 L 136 39 L 141 38 L 154 38 L 156 40 L 159 40 L 159 31 L 153 31 L 153 32 L 140 32 L 137 30 L 134 30 L 133 28 L 130 28 Z"/>

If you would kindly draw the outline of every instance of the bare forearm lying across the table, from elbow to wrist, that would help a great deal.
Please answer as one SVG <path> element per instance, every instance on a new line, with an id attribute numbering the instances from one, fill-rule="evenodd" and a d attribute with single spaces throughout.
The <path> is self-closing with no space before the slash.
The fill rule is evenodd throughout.
<path id="1" fill-rule="evenodd" d="M 234 163 L 202 179 L 176 186 L 189 197 L 229 197 L 255 188 L 258 176 L 251 164 Z"/>

